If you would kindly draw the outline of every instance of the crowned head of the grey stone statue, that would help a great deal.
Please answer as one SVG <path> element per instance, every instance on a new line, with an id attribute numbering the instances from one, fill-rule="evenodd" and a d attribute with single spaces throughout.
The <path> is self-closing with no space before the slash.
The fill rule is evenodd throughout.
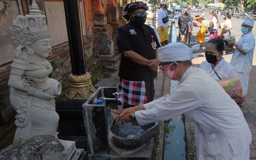
<path id="1" fill-rule="evenodd" d="M 11 39 L 18 45 L 14 54 L 21 54 L 21 49 L 26 48 L 29 63 L 35 63 L 34 54 L 46 58 L 52 49 L 46 17 L 38 9 L 35 0 L 33 0 L 29 15 L 17 16 L 16 20 L 13 20 L 14 24 L 11 28 Z"/>

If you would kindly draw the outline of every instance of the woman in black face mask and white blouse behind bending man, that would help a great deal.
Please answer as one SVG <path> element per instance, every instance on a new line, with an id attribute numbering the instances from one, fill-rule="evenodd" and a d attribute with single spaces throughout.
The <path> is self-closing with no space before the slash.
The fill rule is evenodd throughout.
<path id="1" fill-rule="evenodd" d="M 236 69 L 224 60 L 224 46 L 228 44 L 220 38 L 214 38 L 207 42 L 205 46 L 205 61 L 199 68 L 207 72 L 213 79 L 226 79 L 236 77 Z"/>

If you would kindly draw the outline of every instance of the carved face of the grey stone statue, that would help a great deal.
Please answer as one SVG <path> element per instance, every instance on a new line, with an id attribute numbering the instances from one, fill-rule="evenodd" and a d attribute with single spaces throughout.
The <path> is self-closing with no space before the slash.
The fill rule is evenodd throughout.
<path id="1" fill-rule="evenodd" d="M 52 46 L 50 44 L 50 38 L 43 38 L 33 42 L 31 46 L 34 50 L 34 54 L 39 57 L 47 58 L 49 57 L 49 53 L 51 53 Z"/>

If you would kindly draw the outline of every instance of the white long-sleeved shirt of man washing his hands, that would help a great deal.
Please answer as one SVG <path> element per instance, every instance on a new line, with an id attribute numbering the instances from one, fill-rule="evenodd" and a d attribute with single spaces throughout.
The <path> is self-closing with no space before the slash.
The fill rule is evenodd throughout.
<path id="1" fill-rule="evenodd" d="M 204 70 L 190 67 L 167 98 L 144 104 L 135 112 L 140 125 L 182 113 L 195 122 L 197 159 L 222 160 L 244 152 L 252 141 L 241 109 Z"/>

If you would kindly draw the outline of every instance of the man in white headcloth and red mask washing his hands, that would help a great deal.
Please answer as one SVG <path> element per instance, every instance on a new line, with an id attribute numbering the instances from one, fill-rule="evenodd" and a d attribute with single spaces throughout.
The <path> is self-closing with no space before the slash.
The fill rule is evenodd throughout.
<path id="1" fill-rule="evenodd" d="M 159 49 L 163 74 L 180 81 L 170 95 L 111 114 L 120 119 L 135 117 L 145 125 L 187 113 L 196 125 L 197 159 L 249 160 L 252 135 L 241 109 L 218 82 L 192 67 L 191 49 L 179 42 Z"/>

